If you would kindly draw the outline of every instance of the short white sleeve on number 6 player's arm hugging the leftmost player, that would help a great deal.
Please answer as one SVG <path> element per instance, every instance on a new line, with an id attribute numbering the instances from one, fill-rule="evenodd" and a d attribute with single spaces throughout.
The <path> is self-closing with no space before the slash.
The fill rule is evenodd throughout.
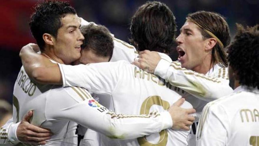
<path id="1" fill-rule="evenodd" d="M 92 63 L 88 65 L 59 64 L 62 73 L 63 86 L 83 87 L 91 92 L 111 94 L 117 87 L 120 67 L 123 62 Z"/>

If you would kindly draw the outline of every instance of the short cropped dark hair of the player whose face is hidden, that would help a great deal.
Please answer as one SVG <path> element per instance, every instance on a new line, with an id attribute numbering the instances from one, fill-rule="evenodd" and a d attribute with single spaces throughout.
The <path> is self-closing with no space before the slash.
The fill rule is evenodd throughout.
<path id="1" fill-rule="evenodd" d="M 103 25 L 89 25 L 80 28 L 84 35 L 84 41 L 81 45 L 82 49 L 91 49 L 95 55 L 100 57 L 112 58 L 113 38 L 109 30 Z"/>

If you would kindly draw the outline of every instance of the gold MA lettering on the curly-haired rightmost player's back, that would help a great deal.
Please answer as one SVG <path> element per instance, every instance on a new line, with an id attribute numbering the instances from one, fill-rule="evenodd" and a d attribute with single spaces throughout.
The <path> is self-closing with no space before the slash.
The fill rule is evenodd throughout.
<path id="1" fill-rule="evenodd" d="M 257 109 L 241 109 L 240 110 L 241 121 L 243 122 L 259 122 L 259 112 Z"/>

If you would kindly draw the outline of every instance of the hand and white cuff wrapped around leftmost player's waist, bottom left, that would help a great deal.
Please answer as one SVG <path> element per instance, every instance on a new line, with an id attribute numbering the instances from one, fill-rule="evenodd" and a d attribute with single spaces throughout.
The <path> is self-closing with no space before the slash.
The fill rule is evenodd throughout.
<path id="1" fill-rule="evenodd" d="M 17 144 L 19 142 L 32 143 L 37 145 L 45 145 L 46 140 L 50 139 L 52 132 L 48 129 L 40 128 L 29 123 L 32 117 L 32 111 L 29 111 L 21 122 L 14 123 L 10 119 L 3 127 L 1 127 L 0 144 Z"/>

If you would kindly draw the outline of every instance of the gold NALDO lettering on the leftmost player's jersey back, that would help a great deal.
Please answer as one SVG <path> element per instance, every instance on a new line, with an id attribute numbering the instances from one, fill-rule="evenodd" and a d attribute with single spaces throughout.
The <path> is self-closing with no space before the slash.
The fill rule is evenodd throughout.
<path id="1" fill-rule="evenodd" d="M 23 70 L 19 72 L 16 83 L 22 88 L 25 93 L 28 93 L 29 96 L 33 96 L 36 85 L 31 82 L 29 77 L 24 73 Z"/>

